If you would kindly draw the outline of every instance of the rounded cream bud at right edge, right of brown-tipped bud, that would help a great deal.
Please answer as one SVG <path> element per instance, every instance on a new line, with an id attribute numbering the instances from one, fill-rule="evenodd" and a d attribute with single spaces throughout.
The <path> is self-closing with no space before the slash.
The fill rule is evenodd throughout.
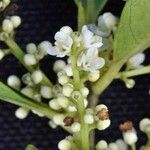
<path id="1" fill-rule="evenodd" d="M 143 132 L 147 132 L 148 127 L 150 128 L 150 119 L 144 118 L 140 121 L 140 130 Z"/>

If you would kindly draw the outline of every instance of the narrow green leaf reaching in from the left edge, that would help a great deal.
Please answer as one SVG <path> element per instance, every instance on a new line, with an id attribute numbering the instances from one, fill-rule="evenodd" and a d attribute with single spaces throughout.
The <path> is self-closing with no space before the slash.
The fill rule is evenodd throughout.
<path id="1" fill-rule="evenodd" d="M 31 110 L 36 110 L 48 118 L 51 118 L 56 112 L 51 110 L 46 104 L 37 102 L 25 95 L 15 91 L 0 81 L 0 99 L 18 106 Z"/>

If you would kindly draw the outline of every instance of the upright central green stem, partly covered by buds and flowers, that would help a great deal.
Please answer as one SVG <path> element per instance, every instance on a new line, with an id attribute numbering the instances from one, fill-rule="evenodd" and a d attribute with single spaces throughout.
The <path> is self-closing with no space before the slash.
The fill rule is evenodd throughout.
<path id="1" fill-rule="evenodd" d="M 75 46 L 73 46 L 72 54 L 71 54 L 71 66 L 73 70 L 73 84 L 75 90 L 79 91 L 81 89 L 81 80 L 80 80 L 80 73 L 77 68 L 77 58 L 78 58 L 78 51 Z M 77 102 L 77 109 L 80 118 L 81 129 L 79 132 L 79 141 L 82 150 L 89 150 L 89 130 L 88 126 L 84 123 L 84 114 L 85 114 L 85 107 L 84 107 L 84 98 Z"/>

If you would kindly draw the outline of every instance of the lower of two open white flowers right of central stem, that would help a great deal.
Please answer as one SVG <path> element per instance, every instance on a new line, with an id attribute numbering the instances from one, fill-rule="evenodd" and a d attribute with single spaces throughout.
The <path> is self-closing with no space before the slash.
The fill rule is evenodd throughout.
<path id="1" fill-rule="evenodd" d="M 105 60 L 98 57 L 97 48 L 89 48 L 85 54 L 79 57 L 77 64 L 84 71 L 97 72 L 104 66 Z"/>

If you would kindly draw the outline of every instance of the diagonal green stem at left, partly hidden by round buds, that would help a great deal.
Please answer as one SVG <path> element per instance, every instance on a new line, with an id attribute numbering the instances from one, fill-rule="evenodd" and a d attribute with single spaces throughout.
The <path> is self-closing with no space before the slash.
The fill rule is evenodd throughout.
<path id="1" fill-rule="evenodd" d="M 25 53 L 23 52 L 23 50 L 18 46 L 18 44 L 11 38 L 8 38 L 7 40 L 4 41 L 6 43 L 6 45 L 10 48 L 10 52 L 22 63 L 22 65 L 29 71 L 29 72 L 33 72 L 34 68 L 32 66 L 27 66 L 24 61 L 23 61 L 23 57 L 25 55 Z M 42 71 L 41 71 L 42 72 Z M 43 72 L 42 72 L 43 73 Z M 53 84 L 51 83 L 51 81 L 46 77 L 46 75 L 43 73 L 43 80 L 42 80 L 43 84 L 46 84 L 50 87 L 53 86 Z"/>

